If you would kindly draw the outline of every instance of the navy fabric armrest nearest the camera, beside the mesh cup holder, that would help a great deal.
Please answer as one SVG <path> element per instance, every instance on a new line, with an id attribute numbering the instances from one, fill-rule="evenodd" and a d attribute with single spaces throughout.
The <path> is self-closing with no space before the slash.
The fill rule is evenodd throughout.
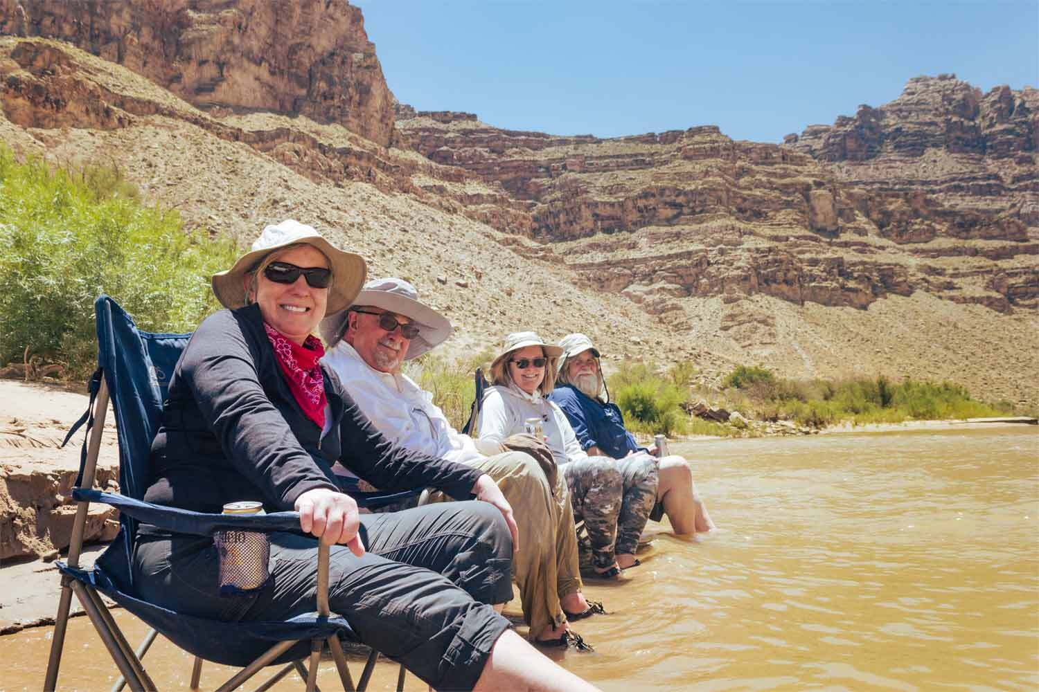
<path id="1" fill-rule="evenodd" d="M 108 504 L 139 522 L 174 533 L 213 535 L 215 531 L 224 529 L 264 533 L 272 531 L 302 533 L 299 528 L 299 513 L 296 511 L 276 511 L 269 515 L 208 515 L 142 502 L 117 493 L 105 493 L 84 488 L 74 488 L 72 496 L 78 502 Z"/>

